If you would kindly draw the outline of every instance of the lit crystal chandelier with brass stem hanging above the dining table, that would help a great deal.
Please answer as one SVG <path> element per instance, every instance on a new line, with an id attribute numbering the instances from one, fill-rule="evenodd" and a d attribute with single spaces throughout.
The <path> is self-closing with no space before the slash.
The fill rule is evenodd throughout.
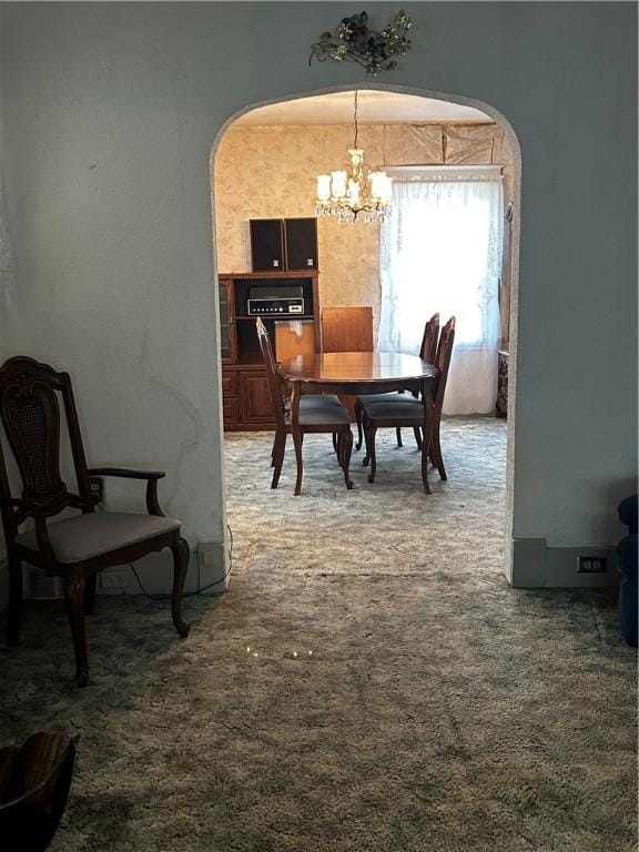
<path id="1" fill-rule="evenodd" d="M 386 172 L 364 169 L 364 150 L 357 146 L 357 91 L 355 91 L 355 141 L 348 149 L 347 170 L 317 175 L 317 216 L 337 216 L 339 222 L 383 222 L 390 212 L 392 179 Z"/>

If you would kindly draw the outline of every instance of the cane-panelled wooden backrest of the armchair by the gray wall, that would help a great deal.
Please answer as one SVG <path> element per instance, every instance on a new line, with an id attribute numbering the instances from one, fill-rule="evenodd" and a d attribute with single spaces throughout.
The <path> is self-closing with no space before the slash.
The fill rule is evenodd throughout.
<path id="1" fill-rule="evenodd" d="M 60 471 L 58 394 L 64 405 L 79 494 L 67 488 Z M 22 478 L 22 498 L 37 503 L 47 516 L 58 515 L 69 506 L 93 511 L 94 501 L 89 488 L 87 459 L 69 374 L 58 373 L 33 358 L 9 358 L 0 367 L 0 417 Z M 0 440 L 0 497 L 13 496 Z M 3 506 L 6 534 L 16 535 L 24 517 L 22 508 Z"/>

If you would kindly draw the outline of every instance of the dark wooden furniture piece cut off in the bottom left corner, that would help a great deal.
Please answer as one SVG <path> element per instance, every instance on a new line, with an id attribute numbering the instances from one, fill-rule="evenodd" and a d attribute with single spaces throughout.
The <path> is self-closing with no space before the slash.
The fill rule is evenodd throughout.
<path id="1" fill-rule="evenodd" d="M 51 843 L 67 805 L 77 742 L 72 734 L 41 732 L 0 749 L 0 842 L 7 852 L 43 852 Z"/>

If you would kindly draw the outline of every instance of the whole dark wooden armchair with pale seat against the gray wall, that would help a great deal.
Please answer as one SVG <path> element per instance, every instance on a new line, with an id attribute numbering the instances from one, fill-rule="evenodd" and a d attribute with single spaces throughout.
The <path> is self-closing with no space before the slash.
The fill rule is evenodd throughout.
<path id="1" fill-rule="evenodd" d="M 77 494 L 69 490 L 60 471 L 59 395 L 69 429 Z M 189 625 L 182 620 L 181 611 L 189 545 L 180 536 L 180 521 L 165 518 L 158 503 L 158 480 L 164 474 L 115 467 L 89 469 L 69 374 L 58 373 L 33 358 L 10 358 L 0 367 L 0 415 L 22 479 L 22 495 L 16 497 L 0 442 L 0 508 L 9 562 L 8 643 L 19 641 L 21 564 L 38 566 L 48 576 L 61 577 L 75 648 L 78 684 L 85 687 L 89 665 L 84 613 L 93 610 L 97 572 L 165 547 L 173 552 L 173 623 L 180 636 L 186 636 Z M 148 514 L 94 511 L 90 476 L 146 480 Z M 69 508 L 80 509 L 82 514 L 47 524 L 49 518 Z M 20 532 L 27 519 L 33 521 L 33 527 Z"/>

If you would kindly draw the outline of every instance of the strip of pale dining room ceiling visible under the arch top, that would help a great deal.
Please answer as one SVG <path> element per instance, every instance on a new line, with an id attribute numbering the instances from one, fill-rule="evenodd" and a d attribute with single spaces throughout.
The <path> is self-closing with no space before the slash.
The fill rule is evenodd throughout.
<path id="1" fill-rule="evenodd" d="M 357 119 L 361 124 L 420 124 L 428 121 L 476 121 L 493 119 L 485 112 L 460 103 L 438 101 L 415 94 L 358 92 Z M 295 101 L 272 103 L 245 113 L 234 125 L 255 124 L 348 124 L 353 121 L 354 92 L 331 92 Z"/>

